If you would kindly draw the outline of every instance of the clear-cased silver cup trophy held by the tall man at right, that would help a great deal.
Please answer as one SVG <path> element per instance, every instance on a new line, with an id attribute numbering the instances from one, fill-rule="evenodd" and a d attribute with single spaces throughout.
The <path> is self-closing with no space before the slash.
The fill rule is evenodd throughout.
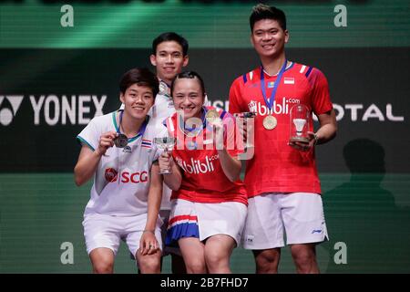
<path id="1" fill-rule="evenodd" d="M 310 111 L 305 105 L 297 104 L 291 109 L 290 141 L 309 143 Z"/>

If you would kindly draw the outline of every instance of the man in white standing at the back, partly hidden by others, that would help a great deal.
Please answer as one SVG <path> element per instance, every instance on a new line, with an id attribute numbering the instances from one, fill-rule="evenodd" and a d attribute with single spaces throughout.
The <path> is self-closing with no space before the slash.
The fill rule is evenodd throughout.
<path id="1" fill-rule="evenodd" d="M 186 67 L 189 62 L 188 41 L 176 33 L 168 32 L 157 36 L 152 42 L 152 54 L 149 60 L 157 70 L 159 78 L 159 94 L 155 99 L 155 106 L 152 108 L 152 117 L 156 123 L 162 125 L 163 121 L 175 112 L 174 103 L 170 97 L 170 84 L 172 80 Z M 165 239 L 167 233 L 169 212 L 170 212 L 169 187 L 163 185 L 162 202 L 160 216 L 164 221 L 162 226 L 162 238 Z M 171 255 L 172 273 L 186 273 L 186 268 L 178 248 L 164 247 L 163 255 Z"/>

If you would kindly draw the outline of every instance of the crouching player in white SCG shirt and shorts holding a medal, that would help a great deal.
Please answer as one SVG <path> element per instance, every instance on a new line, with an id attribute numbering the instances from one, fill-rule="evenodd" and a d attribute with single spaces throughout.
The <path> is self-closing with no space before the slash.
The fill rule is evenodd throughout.
<path id="1" fill-rule="evenodd" d="M 153 139 L 164 134 L 147 115 L 159 82 L 149 69 L 129 70 L 119 84 L 124 110 L 91 120 L 77 140 L 77 185 L 94 176 L 84 213 L 87 253 L 94 273 L 112 273 L 120 240 L 142 273 L 159 273 L 162 177 Z"/>

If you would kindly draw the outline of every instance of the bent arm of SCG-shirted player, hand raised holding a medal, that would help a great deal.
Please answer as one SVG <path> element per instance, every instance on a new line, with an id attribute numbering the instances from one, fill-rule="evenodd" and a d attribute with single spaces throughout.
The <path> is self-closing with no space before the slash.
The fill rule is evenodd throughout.
<path id="1" fill-rule="evenodd" d="M 109 147 L 114 146 L 114 139 L 117 135 L 115 131 L 108 131 L 102 134 L 95 151 L 92 151 L 86 145 L 81 148 L 76 167 L 74 168 L 74 179 L 77 186 L 87 183 L 94 175 L 101 156 L 106 153 Z"/>

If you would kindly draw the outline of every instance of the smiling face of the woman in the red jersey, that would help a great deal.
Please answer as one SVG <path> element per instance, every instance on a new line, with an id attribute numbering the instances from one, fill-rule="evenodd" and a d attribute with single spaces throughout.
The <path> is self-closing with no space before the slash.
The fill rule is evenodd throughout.
<path id="1" fill-rule="evenodd" d="M 200 118 L 204 101 L 204 92 L 198 78 L 177 78 L 174 81 L 172 99 L 175 110 L 183 110 L 184 120 Z"/>

